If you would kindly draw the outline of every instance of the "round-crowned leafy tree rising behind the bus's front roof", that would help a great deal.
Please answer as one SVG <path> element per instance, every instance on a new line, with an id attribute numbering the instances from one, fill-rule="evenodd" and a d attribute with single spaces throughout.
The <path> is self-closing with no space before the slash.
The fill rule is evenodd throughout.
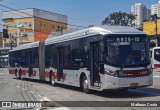
<path id="1" fill-rule="evenodd" d="M 119 25 L 119 26 L 128 26 L 133 25 L 132 21 L 135 19 L 133 14 L 128 14 L 125 12 L 114 12 L 110 14 L 107 18 L 102 21 L 102 25 Z"/>

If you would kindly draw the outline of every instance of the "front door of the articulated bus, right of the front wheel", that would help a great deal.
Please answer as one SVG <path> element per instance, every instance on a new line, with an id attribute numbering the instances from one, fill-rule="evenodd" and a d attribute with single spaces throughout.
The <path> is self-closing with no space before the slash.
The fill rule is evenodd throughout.
<path id="1" fill-rule="evenodd" d="M 99 76 L 99 43 L 93 42 L 90 44 L 90 65 L 91 65 L 91 86 L 100 86 L 100 76 Z"/>

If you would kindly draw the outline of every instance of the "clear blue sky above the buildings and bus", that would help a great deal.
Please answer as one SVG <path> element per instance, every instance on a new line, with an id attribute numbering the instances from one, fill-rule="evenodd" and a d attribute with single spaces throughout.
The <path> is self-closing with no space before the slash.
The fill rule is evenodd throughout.
<path id="1" fill-rule="evenodd" d="M 130 13 L 131 5 L 135 3 L 143 3 L 150 9 L 158 0 L 0 0 L 0 4 L 14 9 L 38 8 L 67 15 L 68 24 L 83 27 L 100 26 L 102 20 L 113 12 Z M 4 10 L 10 9 L 0 6 L 0 13 Z"/>

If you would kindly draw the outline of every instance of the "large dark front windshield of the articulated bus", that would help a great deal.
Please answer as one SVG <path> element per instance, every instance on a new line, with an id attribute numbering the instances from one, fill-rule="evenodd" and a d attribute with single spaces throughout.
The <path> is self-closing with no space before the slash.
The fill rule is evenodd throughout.
<path id="1" fill-rule="evenodd" d="M 145 35 L 106 36 L 106 63 L 138 67 L 149 64 L 149 46 Z"/>

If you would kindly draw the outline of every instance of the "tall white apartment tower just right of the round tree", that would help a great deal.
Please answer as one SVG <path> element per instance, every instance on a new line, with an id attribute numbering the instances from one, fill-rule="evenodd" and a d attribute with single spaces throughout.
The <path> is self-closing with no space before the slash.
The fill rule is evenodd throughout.
<path id="1" fill-rule="evenodd" d="M 143 22 L 150 21 L 151 19 L 151 11 L 142 3 L 136 3 L 135 5 L 131 6 L 131 14 L 135 15 L 136 18 L 133 21 L 135 28 L 141 29 L 143 27 Z"/>

